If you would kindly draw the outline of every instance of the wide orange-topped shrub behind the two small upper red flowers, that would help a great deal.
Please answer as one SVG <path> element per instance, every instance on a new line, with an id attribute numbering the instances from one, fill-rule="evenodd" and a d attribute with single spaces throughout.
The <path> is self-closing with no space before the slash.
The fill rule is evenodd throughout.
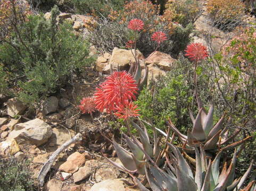
<path id="1" fill-rule="evenodd" d="M 151 36 L 155 31 L 162 31 L 167 34 L 167 41 L 161 44 L 159 51 L 177 56 L 188 44 L 193 26 L 188 24 L 184 28 L 180 24 L 170 22 L 168 18 L 164 19 L 158 13 L 158 7 L 149 1 L 132 1 L 126 4 L 122 11 L 112 11 L 109 15 L 110 20 L 99 21 L 89 38 L 92 44 L 100 49 L 112 51 L 114 47 L 124 47 L 133 36 L 127 29 L 128 22 L 132 19 L 141 19 L 145 25 L 140 33 L 137 48 L 145 56 L 152 53 L 156 45 L 152 42 Z M 98 38 L 99 36 L 101 38 Z"/>

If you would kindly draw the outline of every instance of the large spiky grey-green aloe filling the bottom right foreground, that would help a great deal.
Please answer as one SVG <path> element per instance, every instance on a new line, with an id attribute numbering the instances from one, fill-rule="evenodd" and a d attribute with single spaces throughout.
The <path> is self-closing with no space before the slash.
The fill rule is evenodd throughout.
<path id="1" fill-rule="evenodd" d="M 234 179 L 236 151 L 229 166 L 225 162 L 220 172 L 219 163 L 222 151 L 213 161 L 207 161 L 203 147 L 200 146 L 200 153 L 195 147 L 196 169 L 194 175 L 193 169 L 177 147 L 169 143 L 168 145 L 174 155 L 167 154 L 169 156 L 166 157 L 168 164 L 165 168 L 166 171 L 155 164 L 149 162 L 145 164 L 146 177 L 153 191 L 254 191 L 256 189 L 255 180 L 251 180 L 244 189 L 241 189 L 252 169 L 252 163 L 242 177 Z M 134 177 L 134 180 L 141 190 L 149 191 L 137 178 Z"/>

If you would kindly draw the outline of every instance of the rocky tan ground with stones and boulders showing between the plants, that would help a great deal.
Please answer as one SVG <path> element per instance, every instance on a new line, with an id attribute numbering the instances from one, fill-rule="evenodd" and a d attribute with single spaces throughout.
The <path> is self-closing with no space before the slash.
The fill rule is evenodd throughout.
<path id="1" fill-rule="evenodd" d="M 45 14 L 47 19 L 50 16 L 49 13 Z M 254 18 L 246 18 L 245 21 L 252 19 Z M 69 20 L 73 23 L 75 32 L 85 35 L 87 28 L 96 22 L 90 16 L 69 13 L 61 13 L 59 20 Z M 209 22 L 207 14 L 203 13 L 195 23 L 197 32 L 195 31 L 193 40 L 217 51 L 234 33 L 212 30 Z M 211 36 L 214 36 L 211 40 L 208 38 L 210 30 Z M 208 35 L 204 35 L 206 33 Z M 15 98 L 1 97 L 0 156 L 3 159 L 14 156 L 19 160 L 30 160 L 30 169 L 36 178 L 49 156 L 80 132 L 82 141 L 72 144 L 57 157 L 45 179 L 43 190 L 96 191 L 103 187 L 106 191 L 138 190 L 129 187 L 132 182 L 127 173 L 119 171 L 104 159 L 109 157 L 120 162 L 114 158 L 117 156 L 112 144 L 101 135 L 103 132 L 112 139 L 115 133 L 107 123 L 109 116 L 95 113 L 92 120 L 89 115 L 81 115 L 76 107 L 79 101 L 77 99 L 91 95 L 96 84 L 110 73 L 110 65 L 127 70 L 135 62 L 134 57 L 130 50 L 119 48 L 114 48 L 112 53 L 98 54 L 95 47 L 92 47 L 90 55 L 97 56 L 95 67 L 87 68 L 80 79 L 74 76 L 73 84 L 44 101 L 42 110 L 38 110 L 36 114 L 31 115 L 27 106 Z M 165 75 L 176 60 L 159 51 L 148 59 L 138 51 L 137 57 L 141 60 L 142 68 L 148 66 L 150 79 Z"/>

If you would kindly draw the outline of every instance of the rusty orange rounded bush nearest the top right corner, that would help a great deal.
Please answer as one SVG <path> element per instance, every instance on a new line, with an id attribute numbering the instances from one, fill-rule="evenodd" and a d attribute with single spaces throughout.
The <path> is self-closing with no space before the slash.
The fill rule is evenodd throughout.
<path id="1" fill-rule="evenodd" d="M 210 13 L 214 25 L 221 30 L 230 31 L 242 24 L 245 5 L 240 0 L 209 0 L 207 11 Z"/>

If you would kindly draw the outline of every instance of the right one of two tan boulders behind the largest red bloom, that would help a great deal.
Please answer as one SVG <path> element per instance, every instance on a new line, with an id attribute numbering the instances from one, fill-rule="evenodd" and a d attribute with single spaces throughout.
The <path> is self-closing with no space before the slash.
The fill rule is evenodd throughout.
<path id="1" fill-rule="evenodd" d="M 156 64 L 164 71 L 170 71 L 175 61 L 176 59 L 166 53 L 161 53 L 160 51 L 155 51 L 155 53 L 152 53 L 148 56 L 148 59 L 146 59 L 147 64 Z"/>

